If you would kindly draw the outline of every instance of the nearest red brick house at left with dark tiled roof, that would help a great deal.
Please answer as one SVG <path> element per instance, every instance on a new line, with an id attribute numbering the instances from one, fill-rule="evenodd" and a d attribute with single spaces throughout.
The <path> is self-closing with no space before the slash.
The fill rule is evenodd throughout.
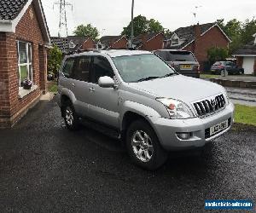
<path id="1" fill-rule="evenodd" d="M 12 127 L 46 91 L 50 38 L 40 0 L 0 3 L 0 129 Z M 25 78 L 31 89 L 23 89 Z"/>

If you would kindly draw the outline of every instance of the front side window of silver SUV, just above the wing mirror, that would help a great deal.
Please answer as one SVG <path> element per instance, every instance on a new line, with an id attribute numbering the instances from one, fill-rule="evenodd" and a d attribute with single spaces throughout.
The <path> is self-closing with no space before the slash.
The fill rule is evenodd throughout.
<path id="1" fill-rule="evenodd" d="M 102 56 L 94 56 L 92 63 L 93 72 L 90 76 L 91 83 L 98 83 L 99 78 L 103 76 L 108 76 L 113 78 L 113 69 L 105 57 Z"/>

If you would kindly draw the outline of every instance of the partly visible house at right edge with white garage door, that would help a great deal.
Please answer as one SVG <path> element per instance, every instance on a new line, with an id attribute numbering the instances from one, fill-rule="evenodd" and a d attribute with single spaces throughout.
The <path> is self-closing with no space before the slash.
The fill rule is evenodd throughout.
<path id="1" fill-rule="evenodd" d="M 237 59 L 237 66 L 242 67 L 245 74 L 256 75 L 256 33 L 253 37 L 254 40 L 251 43 L 237 49 L 233 56 Z"/>

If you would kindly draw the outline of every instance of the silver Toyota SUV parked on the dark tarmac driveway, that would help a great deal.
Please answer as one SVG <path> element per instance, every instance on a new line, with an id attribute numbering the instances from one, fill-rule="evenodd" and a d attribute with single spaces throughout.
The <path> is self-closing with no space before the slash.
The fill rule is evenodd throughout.
<path id="1" fill-rule="evenodd" d="M 180 75 L 147 51 L 66 56 L 57 97 L 69 130 L 86 123 L 119 137 L 148 170 L 164 164 L 169 150 L 203 147 L 233 124 L 222 86 Z"/>

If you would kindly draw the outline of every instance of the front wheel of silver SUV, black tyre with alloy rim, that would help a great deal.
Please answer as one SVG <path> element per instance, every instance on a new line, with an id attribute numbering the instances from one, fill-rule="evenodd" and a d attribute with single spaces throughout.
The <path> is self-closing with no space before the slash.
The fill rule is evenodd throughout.
<path id="1" fill-rule="evenodd" d="M 156 170 L 166 162 L 168 153 L 160 146 L 152 127 L 143 119 L 129 126 L 125 142 L 131 161 L 145 170 Z"/>

